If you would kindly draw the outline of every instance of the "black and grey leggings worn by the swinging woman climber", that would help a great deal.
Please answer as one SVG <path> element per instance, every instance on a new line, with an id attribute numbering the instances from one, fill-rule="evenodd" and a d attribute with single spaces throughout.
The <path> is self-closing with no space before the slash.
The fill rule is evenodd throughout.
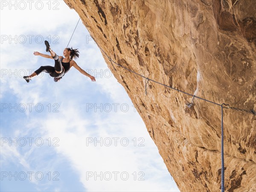
<path id="1" fill-rule="evenodd" d="M 52 77 L 62 77 L 64 76 L 64 71 L 62 70 L 62 64 L 59 56 L 57 54 L 54 55 L 55 65 L 52 66 L 41 66 L 38 70 L 35 70 L 36 75 L 39 75 L 42 72 L 49 73 Z M 56 73 L 56 71 L 61 71 L 61 73 Z"/>

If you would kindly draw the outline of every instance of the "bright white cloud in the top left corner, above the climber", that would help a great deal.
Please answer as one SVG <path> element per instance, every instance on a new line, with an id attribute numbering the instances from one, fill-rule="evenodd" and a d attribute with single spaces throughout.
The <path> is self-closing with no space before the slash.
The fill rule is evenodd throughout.
<path id="1" fill-rule="evenodd" d="M 29 31 L 51 32 L 56 29 L 56 26 L 64 24 L 67 29 L 70 29 L 70 23 L 74 23 L 74 17 L 79 18 L 77 13 L 63 1 L 32 0 L 30 2 L 2 0 L 1 15 L 6 15 L 1 17 L 2 35 L 34 35 L 27 34 Z M 23 5 L 26 9 L 23 9 L 25 7 Z"/>

